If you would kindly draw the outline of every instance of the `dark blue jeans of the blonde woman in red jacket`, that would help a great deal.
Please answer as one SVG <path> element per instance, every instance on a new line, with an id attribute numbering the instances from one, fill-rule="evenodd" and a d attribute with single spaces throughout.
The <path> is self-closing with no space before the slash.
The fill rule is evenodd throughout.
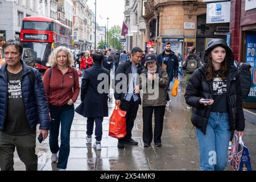
<path id="1" fill-rule="evenodd" d="M 68 156 L 70 151 L 70 130 L 74 118 L 74 105 L 56 107 L 49 105 L 51 113 L 51 123 L 49 127 L 49 147 L 53 154 L 59 151 L 59 159 L 57 168 L 65 169 L 68 164 Z M 54 120 L 53 120 L 54 119 Z M 59 129 L 60 131 L 60 147 L 59 147 Z"/>

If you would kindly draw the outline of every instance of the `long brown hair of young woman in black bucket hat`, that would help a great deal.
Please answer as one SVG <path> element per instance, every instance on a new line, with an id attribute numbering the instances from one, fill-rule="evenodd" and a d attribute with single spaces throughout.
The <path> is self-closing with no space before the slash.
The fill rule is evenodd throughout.
<path id="1" fill-rule="evenodd" d="M 207 57 L 207 66 L 206 66 L 206 76 L 205 80 L 210 81 L 214 78 L 214 67 L 212 63 L 212 57 L 210 56 L 212 51 L 209 51 Z M 224 80 L 228 76 L 228 55 L 226 54 L 224 61 L 222 61 L 220 66 L 219 76 L 221 80 Z"/>

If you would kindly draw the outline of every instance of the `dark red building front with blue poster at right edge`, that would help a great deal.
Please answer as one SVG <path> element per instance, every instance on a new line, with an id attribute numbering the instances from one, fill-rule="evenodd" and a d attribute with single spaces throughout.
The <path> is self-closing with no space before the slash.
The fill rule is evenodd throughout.
<path id="1" fill-rule="evenodd" d="M 230 46 L 234 58 L 251 64 L 252 86 L 246 107 L 256 107 L 256 1 L 231 0 Z"/>

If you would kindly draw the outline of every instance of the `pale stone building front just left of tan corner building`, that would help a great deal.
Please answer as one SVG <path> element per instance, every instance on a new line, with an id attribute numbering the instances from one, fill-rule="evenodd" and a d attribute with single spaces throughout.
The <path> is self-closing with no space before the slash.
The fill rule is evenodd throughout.
<path id="1" fill-rule="evenodd" d="M 146 24 L 144 21 L 144 3 L 146 0 L 125 0 L 125 23 L 128 27 L 125 49 L 133 47 L 146 49 Z"/>

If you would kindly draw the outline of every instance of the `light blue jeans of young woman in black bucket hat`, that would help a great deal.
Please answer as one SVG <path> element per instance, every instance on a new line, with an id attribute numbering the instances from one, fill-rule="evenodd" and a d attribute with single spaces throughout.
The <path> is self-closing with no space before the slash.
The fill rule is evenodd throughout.
<path id="1" fill-rule="evenodd" d="M 228 113 L 210 112 L 206 134 L 196 128 L 200 148 L 200 170 L 222 171 L 228 163 L 229 130 Z"/>

